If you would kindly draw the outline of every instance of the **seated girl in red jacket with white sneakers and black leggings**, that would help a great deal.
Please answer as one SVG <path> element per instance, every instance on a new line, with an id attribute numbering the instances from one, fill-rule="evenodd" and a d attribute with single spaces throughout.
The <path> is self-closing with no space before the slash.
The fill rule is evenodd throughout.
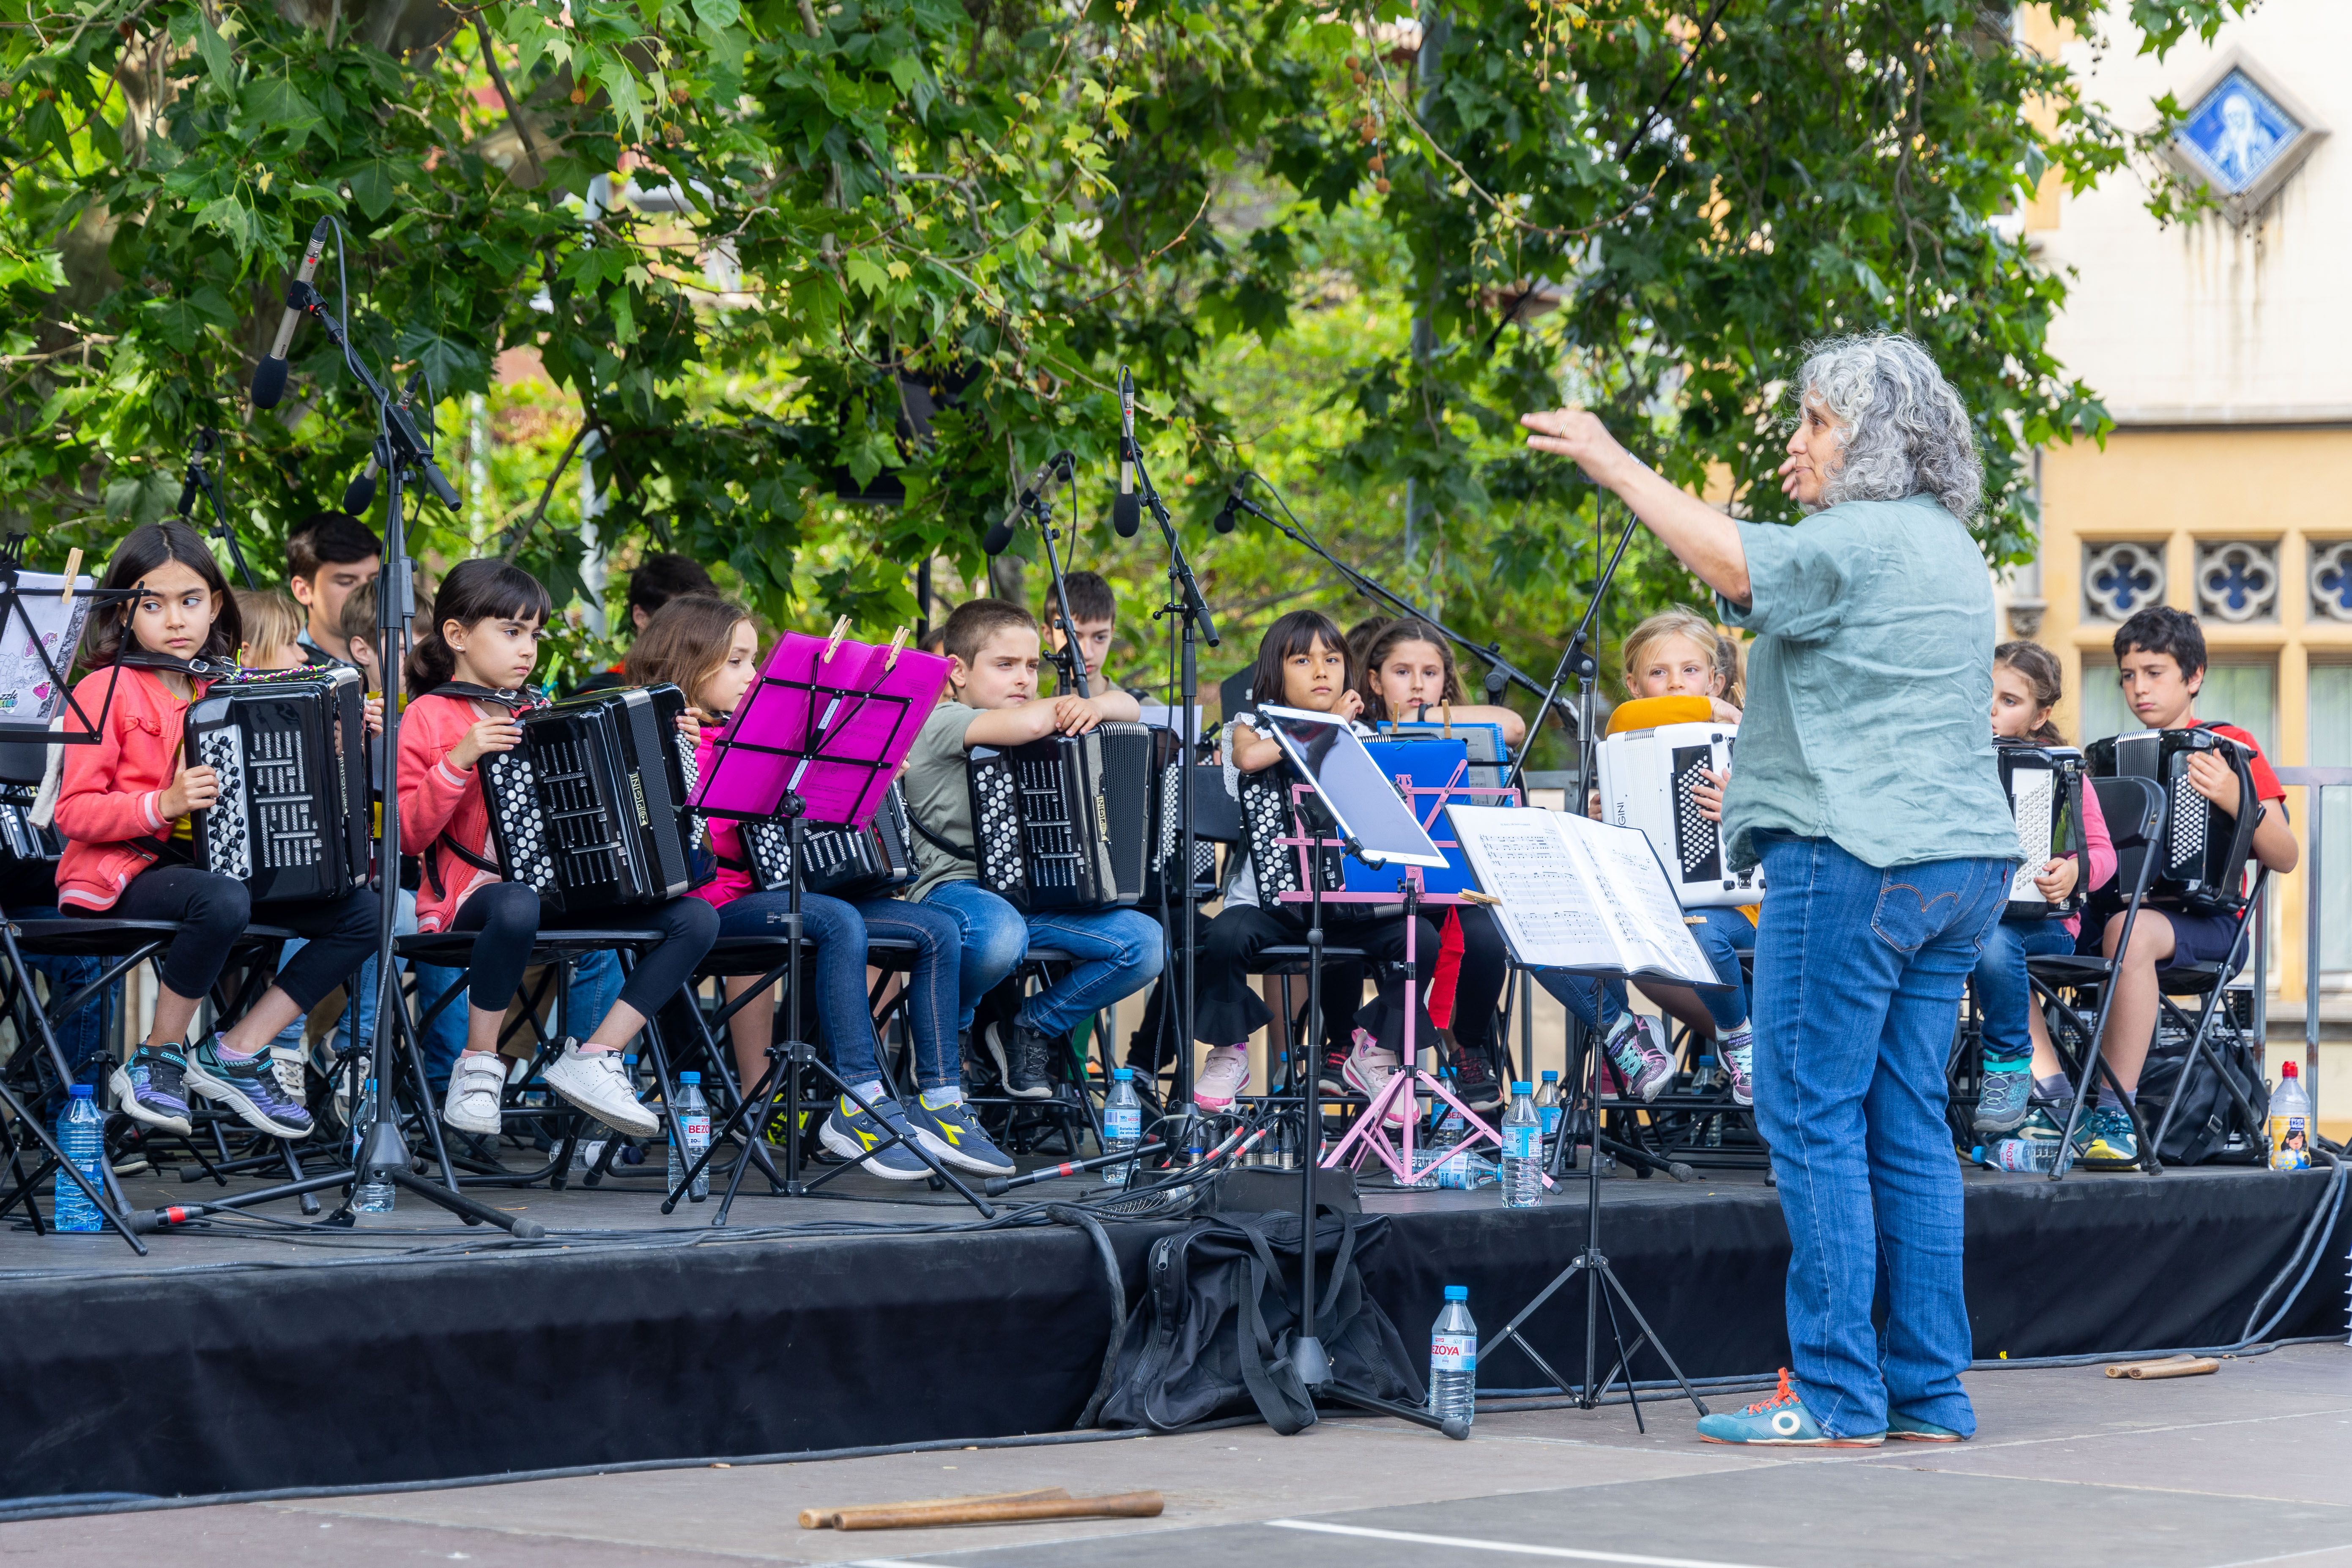
<path id="1" fill-rule="evenodd" d="M 459 562 L 433 595 L 433 616 L 416 632 L 407 689 L 416 696 L 400 719 L 400 837 L 423 870 L 416 889 L 419 931 L 475 931 L 466 976 L 466 1053 L 449 1072 L 442 1121 L 466 1133 L 496 1133 L 506 1091 L 499 1025 L 522 985 L 539 940 L 539 893 L 503 882 L 489 844 L 489 806 L 475 764 L 522 743 L 515 712 L 539 661 L 550 614 L 539 578 L 506 562 Z M 637 959 L 619 1001 L 595 1032 L 564 1039 L 548 1065 L 548 1088 L 623 1133 L 652 1138 L 661 1119 L 637 1105 L 621 1046 L 691 978 L 710 952 L 717 912 L 701 898 L 673 898 L 597 914 L 564 914 L 567 929 L 661 931 Z"/>

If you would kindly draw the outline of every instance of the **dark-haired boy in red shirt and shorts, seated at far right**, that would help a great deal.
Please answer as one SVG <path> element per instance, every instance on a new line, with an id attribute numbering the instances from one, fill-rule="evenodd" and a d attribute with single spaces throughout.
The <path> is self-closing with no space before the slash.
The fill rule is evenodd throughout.
<path id="1" fill-rule="evenodd" d="M 2206 646 L 2197 616 L 2161 604 L 2138 611 L 2114 632 L 2114 663 L 2124 703 L 2131 705 L 2140 724 L 2147 729 L 2194 729 L 2199 724 L 2197 691 L 2204 686 Z M 2298 846 L 2286 825 L 2286 788 L 2270 771 L 2263 748 L 2234 724 L 2209 724 L 2209 729 L 2246 748 L 2256 799 L 2239 799 L 2237 773 L 2209 755 L 2190 757 L 2190 788 L 2230 816 L 2258 811 L 2253 858 L 2279 875 L 2296 870 Z M 2110 914 L 2100 936 L 2103 954 L 2114 957 L 2122 931 L 2124 917 Z M 2140 907 L 2140 919 L 2131 929 L 2131 950 L 2114 978 L 2114 1011 L 2107 1013 L 2103 1051 L 2126 1100 L 2140 1088 L 2140 1067 L 2147 1063 L 2147 1046 L 2157 1034 L 2157 969 L 2164 964 L 2227 964 L 2234 936 L 2237 922 L 2230 914 L 2185 910 L 2161 896 L 2152 896 Z M 2124 1168 L 2140 1159 L 2140 1140 L 2131 1131 L 2131 1117 L 2112 1103 L 2112 1088 L 2100 1086 L 2098 1107 L 2077 1133 L 2084 1166 Z"/>

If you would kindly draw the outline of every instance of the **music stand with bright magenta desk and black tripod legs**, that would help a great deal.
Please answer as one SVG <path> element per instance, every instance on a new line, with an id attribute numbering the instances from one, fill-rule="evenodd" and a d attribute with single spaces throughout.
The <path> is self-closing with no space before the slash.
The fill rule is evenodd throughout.
<path id="1" fill-rule="evenodd" d="M 783 1128 L 783 1194 L 786 1197 L 816 1197 L 818 1187 L 833 1178 L 854 1171 L 858 1161 L 844 1161 L 833 1171 L 826 1171 L 814 1182 L 800 1178 L 802 1152 L 800 1152 L 800 1103 L 802 1103 L 802 1074 L 816 1072 L 821 1081 L 833 1084 L 835 1093 L 856 1105 L 861 1112 L 873 1114 L 875 1107 L 851 1088 L 840 1072 L 833 1070 L 816 1046 L 800 1037 L 800 853 L 802 835 L 807 827 L 809 799 L 802 792 L 823 790 L 823 797 L 835 802 L 828 816 L 840 816 L 844 827 L 863 827 L 873 820 L 873 813 L 882 806 L 882 792 L 889 790 L 891 776 L 898 771 L 898 762 L 906 757 L 908 748 L 915 743 L 915 733 L 922 722 L 931 715 L 938 701 L 941 677 L 934 670 L 936 656 L 931 654 L 906 654 L 898 644 L 889 651 L 863 642 L 844 642 L 847 616 L 842 625 L 835 628 L 833 637 L 807 637 L 800 632 L 786 635 L 769 654 L 767 668 L 753 684 L 750 693 L 736 708 L 734 719 L 720 733 L 710 752 L 710 771 L 694 788 L 694 804 L 706 816 L 724 816 L 734 820 L 776 820 L 786 823 L 786 922 L 783 922 L 783 1039 L 771 1041 L 767 1048 L 767 1072 L 760 1074 L 757 1084 L 746 1084 L 736 1095 L 736 1105 L 727 1112 L 727 1119 L 710 1128 L 710 1145 L 684 1168 L 677 1185 L 661 1199 L 661 1213 L 673 1213 L 680 1199 L 694 1187 L 694 1180 L 710 1166 L 713 1154 L 717 1154 L 720 1143 L 741 1128 L 743 1154 L 734 1161 L 734 1171 L 727 1175 L 727 1192 L 720 1197 L 717 1213 L 710 1215 L 710 1227 L 717 1229 L 727 1225 L 727 1215 L 734 1208 L 736 1192 L 743 1187 L 743 1173 L 750 1171 L 760 1138 L 764 1135 L 769 1121 L 776 1117 L 776 1105 L 786 1105 L 786 1128 Z M 821 651 L 818 651 L 821 649 Z M 910 661 L 910 670 L 922 670 L 917 679 L 908 679 L 906 672 L 894 675 L 896 663 Z M 910 691 L 884 691 L 884 682 L 898 686 L 922 689 L 929 679 L 931 701 L 922 703 L 917 712 L 917 698 Z M 753 738 L 757 731 L 757 738 Z M 734 764 L 734 766 L 729 766 Z M 748 780 L 739 788 L 736 776 Z M 811 776 L 814 773 L 814 776 Z M 722 804 L 731 802 L 731 804 Z M 774 973 L 774 971 L 771 971 Z M 734 1004 L 720 1009 L 720 1027 L 724 1027 L 734 1006 L 750 1006 L 762 994 L 767 985 L 760 985 Z M 946 1164 L 931 1159 L 931 1154 L 913 1138 L 901 1138 L 891 1133 L 880 1147 L 906 1145 L 906 1150 L 931 1168 L 931 1175 L 981 1211 L 983 1218 L 995 1218 L 995 1208 L 962 1182 Z"/>

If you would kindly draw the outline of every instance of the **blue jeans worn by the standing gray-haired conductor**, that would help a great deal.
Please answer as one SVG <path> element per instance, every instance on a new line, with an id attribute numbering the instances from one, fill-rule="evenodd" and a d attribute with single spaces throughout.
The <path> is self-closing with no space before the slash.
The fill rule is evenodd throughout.
<path id="1" fill-rule="evenodd" d="M 1830 839 L 1773 832 L 1759 846 L 1757 1121 L 1788 1220 L 1797 1392 L 1832 1436 L 1884 1432 L 1889 1408 L 1969 1436 L 1943 1065 L 2013 863 L 1877 870 Z"/>

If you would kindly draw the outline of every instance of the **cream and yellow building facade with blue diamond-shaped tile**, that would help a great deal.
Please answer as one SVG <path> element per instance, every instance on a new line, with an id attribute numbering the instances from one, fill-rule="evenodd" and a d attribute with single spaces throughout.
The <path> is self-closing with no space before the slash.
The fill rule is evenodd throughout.
<path id="1" fill-rule="evenodd" d="M 2105 447 L 2039 454 L 2042 552 L 2009 578 L 2009 635 L 2067 668 L 2058 724 L 2136 726 L 2114 689 L 2114 628 L 2143 604 L 2194 611 L 2213 670 L 2199 717 L 2246 726 L 2279 766 L 2352 766 L 2352 5 L 2272 0 L 2211 45 L 2136 54 L 2114 7 L 2107 47 L 2020 19 L 2129 127 L 2173 94 L 2190 110 L 2169 158 L 2225 212 L 2159 226 L 2145 190 L 2051 186 L 2023 214 L 2034 256 L 2070 273 L 2051 341 L 2105 400 Z M 2288 792 L 2298 837 L 2314 802 Z M 2352 790 L 2326 804 L 2324 957 L 2305 973 L 2310 863 L 2274 884 L 2270 1065 L 2303 1051 L 2305 997 L 2324 1034 L 2319 1114 L 2352 1131 Z"/>

